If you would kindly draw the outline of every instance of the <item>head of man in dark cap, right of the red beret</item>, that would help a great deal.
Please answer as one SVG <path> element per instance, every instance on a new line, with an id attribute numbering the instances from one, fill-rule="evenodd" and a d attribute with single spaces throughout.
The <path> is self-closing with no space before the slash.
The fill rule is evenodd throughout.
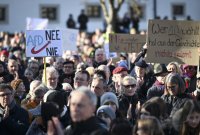
<path id="1" fill-rule="evenodd" d="M 135 63 L 135 73 L 137 77 L 144 77 L 146 74 L 147 63 L 144 60 L 140 60 Z"/>

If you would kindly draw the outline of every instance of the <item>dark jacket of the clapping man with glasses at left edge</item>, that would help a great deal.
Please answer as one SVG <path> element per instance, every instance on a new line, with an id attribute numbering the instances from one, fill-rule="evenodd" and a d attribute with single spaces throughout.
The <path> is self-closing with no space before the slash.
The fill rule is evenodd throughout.
<path id="1" fill-rule="evenodd" d="M 0 135 L 25 135 L 28 130 L 28 112 L 16 103 L 13 104 L 9 116 L 0 122 Z"/>

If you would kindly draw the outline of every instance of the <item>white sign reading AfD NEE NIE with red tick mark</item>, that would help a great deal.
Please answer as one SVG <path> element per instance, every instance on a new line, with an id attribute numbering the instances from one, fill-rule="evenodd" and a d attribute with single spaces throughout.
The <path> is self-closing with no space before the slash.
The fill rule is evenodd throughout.
<path id="1" fill-rule="evenodd" d="M 60 30 L 26 31 L 26 56 L 62 56 L 61 35 Z"/>

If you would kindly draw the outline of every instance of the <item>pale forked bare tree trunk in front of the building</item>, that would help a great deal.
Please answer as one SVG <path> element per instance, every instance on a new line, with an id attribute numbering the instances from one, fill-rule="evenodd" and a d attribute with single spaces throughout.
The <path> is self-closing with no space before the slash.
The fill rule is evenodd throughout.
<path id="1" fill-rule="evenodd" d="M 100 0 L 107 28 L 109 27 L 114 32 L 116 31 L 116 23 L 118 21 L 118 11 L 124 1 L 125 0 Z M 117 3 L 115 4 L 115 2 Z"/>

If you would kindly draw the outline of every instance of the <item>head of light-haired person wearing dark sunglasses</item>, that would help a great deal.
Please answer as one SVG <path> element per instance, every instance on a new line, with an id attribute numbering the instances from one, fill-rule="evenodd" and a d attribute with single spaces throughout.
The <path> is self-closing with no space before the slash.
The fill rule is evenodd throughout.
<path id="1" fill-rule="evenodd" d="M 126 96 L 133 96 L 136 92 L 136 84 L 137 81 L 134 77 L 132 76 L 126 76 L 122 80 L 122 94 Z"/>

